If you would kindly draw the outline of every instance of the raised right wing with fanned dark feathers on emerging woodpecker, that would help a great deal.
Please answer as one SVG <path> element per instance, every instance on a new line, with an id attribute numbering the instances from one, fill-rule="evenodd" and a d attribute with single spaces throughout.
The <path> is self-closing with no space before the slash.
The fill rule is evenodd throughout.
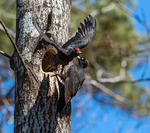
<path id="1" fill-rule="evenodd" d="M 88 15 L 87 19 L 84 20 L 84 24 L 80 23 L 81 28 L 78 28 L 76 35 L 66 42 L 62 47 L 68 46 L 84 48 L 91 41 L 96 30 L 96 20 Z"/>

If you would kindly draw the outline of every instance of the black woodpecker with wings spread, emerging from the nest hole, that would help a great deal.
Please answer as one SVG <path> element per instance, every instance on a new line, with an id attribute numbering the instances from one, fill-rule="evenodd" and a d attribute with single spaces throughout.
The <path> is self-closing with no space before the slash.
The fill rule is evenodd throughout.
<path id="1" fill-rule="evenodd" d="M 45 41 L 50 43 L 57 49 L 57 54 L 51 57 L 51 64 L 67 65 L 74 57 L 80 55 L 82 52 L 80 49 L 88 45 L 95 34 L 96 20 L 88 15 L 87 19 L 84 20 L 84 24 L 80 23 L 81 28 L 78 28 L 75 36 L 68 40 L 63 46 L 60 46 L 53 40 L 51 40 L 39 27 L 36 16 L 34 15 L 34 24 L 38 32 L 43 36 Z"/>

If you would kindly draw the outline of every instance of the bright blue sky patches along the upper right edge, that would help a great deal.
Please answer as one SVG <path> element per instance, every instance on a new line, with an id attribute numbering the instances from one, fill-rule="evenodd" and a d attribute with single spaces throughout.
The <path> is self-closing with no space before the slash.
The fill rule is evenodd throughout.
<path id="1" fill-rule="evenodd" d="M 134 9 L 134 12 L 150 26 L 150 0 L 135 0 L 135 1 L 137 5 L 136 8 Z M 147 34 L 147 30 L 142 24 L 137 22 L 133 17 L 131 17 L 131 19 L 134 23 L 134 27 L 138 34 Z M 135 62 L 135 66 L 133 66 L 133 68 L 130 70 L 130 74 L 134 79 L 141 78 L 141 75 L 145 69 L 145 65 L 147 65 L 146 61 L 143 61 L 140 65 L 137 65 L 137 63 L 139 63 L 138 60 Z M 150 56 L 148 58 L 147 68 L 150 68 Z M 147 69 L 144 78 L 149 77 L 150 77 L 150 69 Z M 144 87 L 150 88 L 150 82 L 140 82 L 139 84 Z"/>

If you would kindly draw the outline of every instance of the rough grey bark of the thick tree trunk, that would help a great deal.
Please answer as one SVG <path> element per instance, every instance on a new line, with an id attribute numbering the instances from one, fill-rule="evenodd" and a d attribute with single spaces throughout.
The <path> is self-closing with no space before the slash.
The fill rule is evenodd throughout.
<path id="1" fill-rule="evenodd" d="M 63 114 L 57 113 L 62 86 L 54 73 L 42 70 L 44 53 L 52 47 L 38 47 L 43 41 L 32 16 L 37 14 L 40 27 L 62 45 L 69 38 L 70 6 L 69 0 L 17 0 L 16 43 L 29 69 L 24 69 L 14 53 L 15 133 L 70 132 L 70 105 Z"/>

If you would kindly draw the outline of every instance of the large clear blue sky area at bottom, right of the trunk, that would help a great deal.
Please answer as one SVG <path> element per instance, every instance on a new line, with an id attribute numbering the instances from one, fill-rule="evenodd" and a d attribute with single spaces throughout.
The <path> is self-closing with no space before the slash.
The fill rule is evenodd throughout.
<path id="1" fill-rule="evenodd" d="M 72 133 L 149 133 L 150 117 L 133 118 L 118 107 L 97 103 L 90 98 L 90 94 L 82 94 L 79 99 L 74 98 L 72 104 L 86 99 L 87 95 L 89 100 L 80 108 L 82 111 L 72 111 L 76 114 L 72 116 Z"/>

